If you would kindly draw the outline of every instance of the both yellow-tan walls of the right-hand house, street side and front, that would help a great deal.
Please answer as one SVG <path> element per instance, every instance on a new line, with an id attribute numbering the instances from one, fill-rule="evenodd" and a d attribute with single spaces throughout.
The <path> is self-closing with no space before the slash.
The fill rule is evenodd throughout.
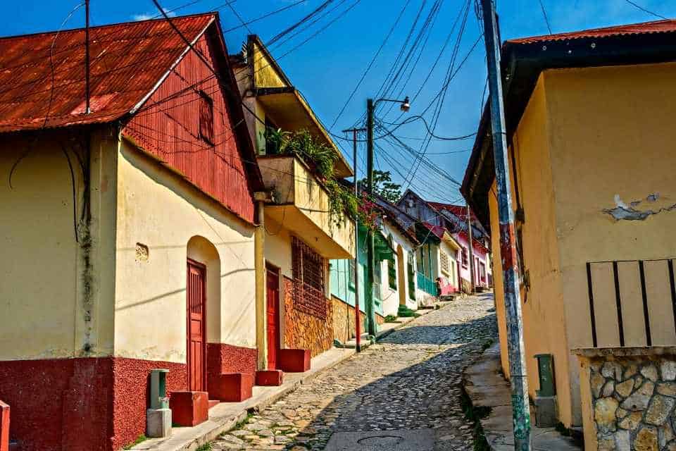
<path id="1" fill-rule="evenodd" d="M 531 289 L 524 304 L 530 392 L 537 388 L 533 354 L 554 354 L 558 407 L 567 426 L 582 423 L 580 364 L 572 349 L 592 347 L 586 264 L 665 259 L 676 255 L 673 76 L 676 63 L 547 70 L 537 82 L 514 136 L 525 209 L 523 252 Z M 494 187 L 495 190 L 495 187 Z M 651 202 L 650 194 L 658 193 Z M 514 192 L 513 192 L 514 196 Z M 492 197 L 492 195 L 491 195 Z M 513 197 L 513 200 L 515 198 Z M 661 211 L 643 221 L 615 221 L 615 199 Z M 492 245 L 499 255 L 495 199 L 489 199 Z M 515 205 L 514 205 L 515 207 Z M 494 262 L 503 366 L 506 327 L 501 262 Z M 618 345 L 609 268 L 593 268 L 599 346 Z M 637 266 L 620 264 L 627 345 L 645 345 Z M 674 345 L 665 264 L 646 262 L 653 345 Z M 598 293 L 598 296 L 597 296 Z M 507 369 L 507 368 L 505 368 Z M 588 412 L 587 415 L 588 416 Z"/>

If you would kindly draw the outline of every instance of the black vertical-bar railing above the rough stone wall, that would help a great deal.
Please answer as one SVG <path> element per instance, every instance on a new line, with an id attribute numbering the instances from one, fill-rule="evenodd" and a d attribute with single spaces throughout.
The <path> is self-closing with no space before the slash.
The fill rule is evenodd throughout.
<path id="1" fill-rule="evenodd" d="M 587 263 L 594 347 L 676 345 L 674 260 Z"/>

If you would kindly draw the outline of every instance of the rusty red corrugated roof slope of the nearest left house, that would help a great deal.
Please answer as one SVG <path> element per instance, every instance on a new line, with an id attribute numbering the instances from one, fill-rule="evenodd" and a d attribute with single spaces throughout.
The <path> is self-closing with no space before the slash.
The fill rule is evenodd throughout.
<path id="1" fill-rule="evenodd" d="M 214 18 L 207 13 L 172 22 L 192 41 Z M 142 101 L 187 49 L 166 20 L 92 27 L 89 37 L 88 115 L 84 29 L 0 39 L 0 132 L 115 121 Z"/>

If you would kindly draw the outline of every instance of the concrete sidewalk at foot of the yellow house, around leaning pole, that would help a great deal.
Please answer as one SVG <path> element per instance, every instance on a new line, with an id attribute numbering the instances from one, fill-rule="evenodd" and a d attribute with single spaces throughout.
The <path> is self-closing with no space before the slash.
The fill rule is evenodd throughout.
<path id="1" fill-rule="evenodd" d="M 491 413 L 481 420 L 486 440 L 494 451 L 513 451 L 512 404 L 509 383 L 500 375 L 500 343 L 496 342 L 463 373 L 465 391 L 474 407 L 490 407 Z M 534 418 L 534 416 L 532 416 Z M 573 440 L 554 428 L 531 430 L 533 450 L 580 451 Z"/>

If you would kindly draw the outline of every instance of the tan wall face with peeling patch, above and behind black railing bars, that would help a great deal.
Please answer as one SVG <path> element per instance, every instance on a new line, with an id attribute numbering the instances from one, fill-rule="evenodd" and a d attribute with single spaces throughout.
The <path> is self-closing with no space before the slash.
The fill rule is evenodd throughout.
<path id="1" fill-rule="evenodd" d="M 556 230 L 561 255 L 562 289 L 568 316 L 571 348 L 592 346 L 587 295 L 587 261 L 663 259 L 676 255 L 676 178 L 673 174 L 673 129 L 676 63 L 612 68 L 549 70 L 544 75 L 549 110 L 553 191 L 556 193 Z M 656 202 L 649 194 L 659 193 Z M 644 221 L 615 221 L 603 213 L 613 209 L 615 197 L 637 210 L 661 211 Z M 622 281 L 631 290 L 635 269 Z M 651 276 L 647 276 L 651 271 Z M 646 278 L 660 268 L 646 266 Z M 664 285 L 667 285 L 665 282 Z M 649 284 L 650 285 L 650 284 Z M 622 288 L 623 291 L 626 290 Z M 627 309 L 625 334 L 633 344 L 644 343 L 637 329 L 642 315 L 631 314 L 635 295 L 623 299 Z M 612 305 L 612 304 L 611 304 Z M 615 313 L 608 304 L 596 308 L 596 317 Z M 653 345 L 674 345 L 676 335 L 665 290 L 649 298 Z M 613 325 L 599 324 L 599 345 L 612 345 Z M 574 359 L 570 373 L 577 375 Z M 572 380 L 577 395 L 577 376 Z M 575 406 L 580 405 L 574 399 Z"/>

